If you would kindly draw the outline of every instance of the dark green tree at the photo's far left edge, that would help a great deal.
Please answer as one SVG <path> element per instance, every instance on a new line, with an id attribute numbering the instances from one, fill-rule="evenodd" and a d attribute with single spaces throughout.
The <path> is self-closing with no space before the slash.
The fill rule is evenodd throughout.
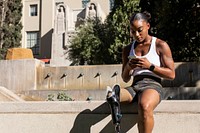
<path id="1" fill-rule="evenodd" d="M 0 59 L 5 57 L 8 48 L 21 45 L 21 17 L 21 0 L 3 0 L 0 2 Z"/>

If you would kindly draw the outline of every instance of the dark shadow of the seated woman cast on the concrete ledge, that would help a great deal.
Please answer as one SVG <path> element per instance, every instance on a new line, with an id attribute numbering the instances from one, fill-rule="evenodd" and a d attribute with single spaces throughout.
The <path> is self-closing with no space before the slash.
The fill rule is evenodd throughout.
<path id="1" fill-rule="evenodd" d="M 121 132 L 126 133 L 137 123 L 136 105 L 134 104 L 122 104 L 122 120 L 121 120 Z M 110 109 L 105 102 L 98 106 L 94 110 L 86 109 L 79 113 L 75 119 L 74 125 L 70 133 L 91 133 L 91 127 L 102 121 L 108 115 L 110 115 Z M 110 121 L 102 127 L 100 133 L 114 133 L 114 125 L 112 124 L 111 116 Z"/>

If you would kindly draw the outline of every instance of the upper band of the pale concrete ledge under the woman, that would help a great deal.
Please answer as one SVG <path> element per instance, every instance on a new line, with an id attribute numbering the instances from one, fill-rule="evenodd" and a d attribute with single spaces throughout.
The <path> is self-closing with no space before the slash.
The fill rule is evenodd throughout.
<path id="1" fill-rule="evenodd" d="M 110 114 L 105 101 L 0 102 L 0 113 L 79 113 L 85 109 Z M 154 112 L 200 113 L 200 100 L 163 100 Z M 122 104 L 122 113 L 136 114 L 137 104 Z"/>

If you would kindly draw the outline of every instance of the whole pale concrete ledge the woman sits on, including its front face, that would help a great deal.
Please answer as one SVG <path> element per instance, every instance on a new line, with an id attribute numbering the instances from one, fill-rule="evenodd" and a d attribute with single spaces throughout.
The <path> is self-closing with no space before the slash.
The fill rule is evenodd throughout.
<path id="1" fill-rule="evenodd" d="M 136 104 L 122 105 L 122 133 L 138 133 L 136 110 Z M 0 102 L 0 121 L 6 133 L 114 132 L 105 101 Z M 199 123 L 199 100 L 162 101 L 153 133 L 199 133 Z"/>

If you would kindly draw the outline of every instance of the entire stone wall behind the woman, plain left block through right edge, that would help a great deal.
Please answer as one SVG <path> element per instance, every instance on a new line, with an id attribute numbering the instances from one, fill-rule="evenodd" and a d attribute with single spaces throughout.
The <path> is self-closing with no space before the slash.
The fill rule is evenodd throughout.
<path id="1" fill-rule="evenodd" d="M 200 64 L 175 63 L 176 78 L 163 80 L 164 87 L 199 88 Z M 49 67 L 37 59 L 1 60 L 0 86 L 13 92 L 24 90 L 106 89 L 120 84 L 129 86 L 121 78 L 121 64 Z"/>

